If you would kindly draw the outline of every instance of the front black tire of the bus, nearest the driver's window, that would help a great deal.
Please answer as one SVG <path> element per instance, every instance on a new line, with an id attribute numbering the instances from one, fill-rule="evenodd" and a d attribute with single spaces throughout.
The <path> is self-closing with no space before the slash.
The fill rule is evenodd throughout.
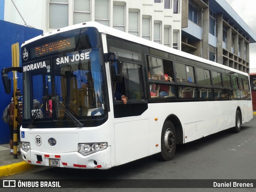
<path id="1" fill-rule="evenodd" d="M 161 157 L 163 160 L 173 158 L 176 149 L 176 132 L 171 121 L 164 123 L 161 134 Z"/>

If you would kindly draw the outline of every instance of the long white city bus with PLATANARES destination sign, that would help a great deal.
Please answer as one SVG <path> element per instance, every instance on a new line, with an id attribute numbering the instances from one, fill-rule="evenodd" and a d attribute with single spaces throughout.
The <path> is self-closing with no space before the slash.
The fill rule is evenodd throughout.
<path id="1" fill-rule="evenodd" d="M 21 53 L 21 152 L 30 164 L 170 160 L 176 144 L 238 133 L 252 119 L 247 73 L 96 22 L 28 40 Z"/>

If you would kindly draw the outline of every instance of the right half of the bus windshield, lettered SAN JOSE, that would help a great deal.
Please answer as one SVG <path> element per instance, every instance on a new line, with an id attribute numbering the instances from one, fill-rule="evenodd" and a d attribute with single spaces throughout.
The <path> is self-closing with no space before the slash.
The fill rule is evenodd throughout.
<path id="1" fill-rule="evenodd" d="M 98 49 L 54 58 L 53 65 L 55 95 L 60 103 L 76 117 L 103 115 L 105 102 Z M 64 116 L 63 111 L 57 111 L 58 117 Z"/>

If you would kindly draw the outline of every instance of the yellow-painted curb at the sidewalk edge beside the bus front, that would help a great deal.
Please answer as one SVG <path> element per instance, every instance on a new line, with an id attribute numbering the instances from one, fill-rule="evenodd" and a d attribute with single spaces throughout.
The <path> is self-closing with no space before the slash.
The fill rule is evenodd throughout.
<path id="1" fill-rule="evenodd" d="M 35 165 L 28 164 L 27 162 L 18 162 L 14 164 L 0 166 L 0 177 L 16 174 L 34 168 Z"/>

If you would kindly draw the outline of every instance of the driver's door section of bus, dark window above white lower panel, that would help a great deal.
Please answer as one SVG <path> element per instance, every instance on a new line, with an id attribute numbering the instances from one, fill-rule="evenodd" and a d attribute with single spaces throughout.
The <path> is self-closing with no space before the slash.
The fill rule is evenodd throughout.
<path id="1" fill-rule="evenodd" d="M 113 85 L 114 131 L 116 165 L 150 155 L 149 119 L 143 117 L 148 109 L 144 99 L 142 66 L 140 63 L 122 62 L 122 83 Z M 114 91 L 126 95 L 124 104 Z"/>

